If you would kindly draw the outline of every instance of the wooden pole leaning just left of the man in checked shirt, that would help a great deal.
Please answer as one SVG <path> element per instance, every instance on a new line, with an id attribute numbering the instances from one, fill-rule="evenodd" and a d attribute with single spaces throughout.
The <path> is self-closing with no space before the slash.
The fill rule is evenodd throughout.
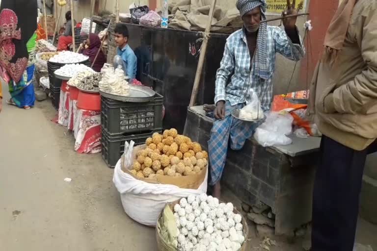
<path id="1" fill-rule="evenodd" d="M 204 40 L 203 40 L 202 46 L 200 48 L 198 68 L 196 69 L 194 86 L 192 87 L 190 106 L 195 105 L 196 96 L 198 95 L 199 81 L 200 81 L 200 76 L 202 75 L 204 60 L 206 58 L 208 39 L 209 39 L 209 34 L 211 32 L 212 18 L 214 16 L 215 6 L 216 6 L 216 0 L 213 0 L 212 5 L 211 5 L 211 9 L 210 9 L 210 14 L 209 14 L 209 17 L 208 17 L 208 24 L 207 24 L 206 31 L 205 31 L 205 34 L 204 34 Z"/>

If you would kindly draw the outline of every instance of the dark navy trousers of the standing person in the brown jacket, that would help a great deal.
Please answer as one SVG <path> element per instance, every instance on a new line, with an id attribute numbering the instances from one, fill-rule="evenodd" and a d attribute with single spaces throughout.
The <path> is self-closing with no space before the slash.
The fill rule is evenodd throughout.
<path id="1" fill-rule="evenodd" d="M 352 251 L 365 159 L 323 135 L 313 193 L 312 251 Z"/>

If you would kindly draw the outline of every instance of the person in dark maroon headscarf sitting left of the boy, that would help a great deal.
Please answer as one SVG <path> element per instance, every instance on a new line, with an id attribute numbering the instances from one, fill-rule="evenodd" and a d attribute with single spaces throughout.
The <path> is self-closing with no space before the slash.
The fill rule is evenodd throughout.
<path id="1" fill-rule="evenodd" d="M 90 63 L 93 64 L 94 59 L 96 58 L 98 50 L 97 59 L 94 62 L 93 70 L 96 72 L 100 72 L 104 64 L 106 63 L 106 56 L 105 53 L 100 49 L 101 47 L 101 40 L 97 34 L 90 33 L 89 38 L 81 45 L 81 53 L 89 57 Z"/>

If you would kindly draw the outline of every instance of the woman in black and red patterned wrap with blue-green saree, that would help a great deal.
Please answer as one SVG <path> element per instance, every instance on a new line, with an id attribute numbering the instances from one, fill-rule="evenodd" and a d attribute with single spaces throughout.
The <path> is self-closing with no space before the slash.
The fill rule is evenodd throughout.
<path id="1" fill-rule="evenodd" d="M 1 0 L 0 75 L 9 85 L 8 104 L 34 106 L 37 0 Z"/>

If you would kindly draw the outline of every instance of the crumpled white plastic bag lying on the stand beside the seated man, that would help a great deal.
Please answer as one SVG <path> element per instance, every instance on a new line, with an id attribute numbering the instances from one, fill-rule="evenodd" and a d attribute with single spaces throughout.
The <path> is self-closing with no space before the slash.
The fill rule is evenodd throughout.
<path id="1" fill-rule="evenodd" d="M 267 113 L 266 121 L 254 133 L 255 140 L 263 147 L 292 144 L 287 136 L 292 133 L 293 117 L 290 114 Z"/>

